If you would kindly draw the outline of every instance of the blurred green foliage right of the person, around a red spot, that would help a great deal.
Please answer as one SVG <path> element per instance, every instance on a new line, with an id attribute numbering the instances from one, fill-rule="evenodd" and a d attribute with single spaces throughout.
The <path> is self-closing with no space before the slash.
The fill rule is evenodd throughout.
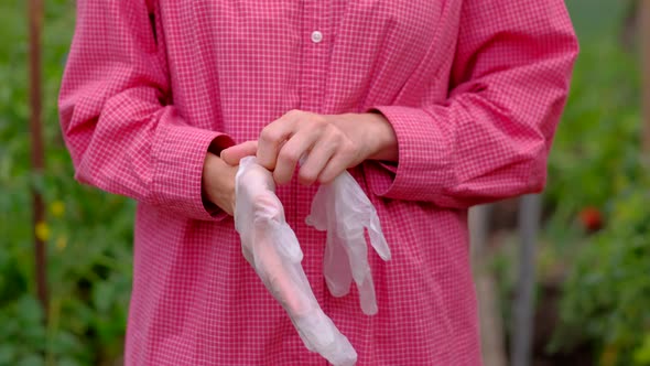
<path id="1" fill-rule="evenodd" d="M 650 177 L 636 61 L 613 39 L 582 44 L 549 162 L 545 235 L 571 247 L 560 251 L 571 267 L 550 349 L 589 342 L 602 365 L 648 365 L 650 348 Z M 586 206 L 605 217 L 595 235 L 575 229 Z"/>

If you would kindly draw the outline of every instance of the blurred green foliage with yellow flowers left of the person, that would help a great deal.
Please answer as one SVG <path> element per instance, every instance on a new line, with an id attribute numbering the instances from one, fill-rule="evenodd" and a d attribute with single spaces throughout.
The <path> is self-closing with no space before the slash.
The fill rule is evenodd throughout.
<path id="1" fill-rule="evenodd" d="M 56 98 L 74 1 L 45 1 L 46 170 L 30 166 L 26 2 L 0 2 L 0 365 L 97 365 L 121 354 L 131 286 L 133 203 L 74 181 Z M 47 323 L 35 298 L 30 189 L 46 201 Z"/>

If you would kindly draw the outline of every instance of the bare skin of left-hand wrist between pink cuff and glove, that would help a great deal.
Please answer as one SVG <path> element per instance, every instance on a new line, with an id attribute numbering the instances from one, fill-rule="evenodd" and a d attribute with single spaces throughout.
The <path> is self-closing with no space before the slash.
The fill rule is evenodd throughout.
<path id="1" fill-rule="evenodd" d="M 206 198 L 230 216 L 235 213 L 235 175 L 238 169 L 210 152 L 203 163 L 202 183 Z"/>

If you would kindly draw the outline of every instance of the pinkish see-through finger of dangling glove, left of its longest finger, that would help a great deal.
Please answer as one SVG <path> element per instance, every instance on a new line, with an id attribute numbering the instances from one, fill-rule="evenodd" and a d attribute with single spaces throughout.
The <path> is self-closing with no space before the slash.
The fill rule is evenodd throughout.
<path id="1" fill-rule="evenodd" d="M 340 298 L 349 292 L 353 282 L 349 257 L 340 238 L 333 230 L 327 232 L 323 274 L 333 297 Z"/>

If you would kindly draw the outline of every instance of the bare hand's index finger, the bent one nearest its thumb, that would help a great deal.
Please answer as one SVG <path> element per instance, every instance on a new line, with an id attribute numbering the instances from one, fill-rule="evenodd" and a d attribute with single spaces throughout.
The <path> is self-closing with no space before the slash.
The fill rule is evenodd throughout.
<path id="1" fill-rule="evenodd" d="M 260 165 L 270 171 L 275 169 L 278 153 L 280 153 L 282 143 L 295 132 L 299 114 L 294 111 L 288 112 L 262 129 L 257 151 Z"/>

